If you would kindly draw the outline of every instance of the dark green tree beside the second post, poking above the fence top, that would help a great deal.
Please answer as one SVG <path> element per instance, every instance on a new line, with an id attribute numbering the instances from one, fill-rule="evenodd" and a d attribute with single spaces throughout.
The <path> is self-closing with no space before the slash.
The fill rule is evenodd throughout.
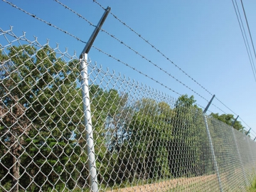
<path id="1" fill-rule="evenodd" d="M 193 96 L 182 95 L 174 107 L 174 139 L 169 141 L 169 169 L 174 177 L 202 175 L 208 166 L 203 150 L 208 147 L 203 112 L 195 102 Z"/>

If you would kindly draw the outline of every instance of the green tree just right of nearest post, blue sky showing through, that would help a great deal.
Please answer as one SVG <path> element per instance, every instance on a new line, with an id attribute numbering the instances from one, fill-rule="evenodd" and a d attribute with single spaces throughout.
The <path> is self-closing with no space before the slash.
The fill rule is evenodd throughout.
<path id="1" fill-rule="evenodd" d="M 114 89 L 104 90 L 99 85 L 90 85 L 90 98 L 98 180 L 108 186 L 122 183 L 122 170 L 125 169 L 125 150 L 122 149 L 130 119 L 126 107 L 128 96 Z"/>

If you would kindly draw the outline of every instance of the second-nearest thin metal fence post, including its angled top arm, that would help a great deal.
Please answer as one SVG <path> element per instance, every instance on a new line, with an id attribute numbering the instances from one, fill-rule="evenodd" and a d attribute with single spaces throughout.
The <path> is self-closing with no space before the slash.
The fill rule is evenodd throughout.
<path id="1" fill-rule="evenodd" d="M 210 107 L 210 104 L 213 101 L 214 97 L 215 97 L 215 95 L 213 95 L 210 102 L 208 102 L 208 105 L 206 106 L 206 109 L 203 110 L 203 117 L 204 117 L 205 124 L 206 124 L 206 132 L 207 132 L 207 136 L 208 136 L 209 143 L 210 143 L 210 151 L 213 155 L 214 168 L 215 168 L 215 171 L 217 173 L 220 192 L 223 192 L 223 189 L 222 189 L 222 186 L 221 186 L 221 180 L 220 180 L 220 173 L 218 171 L 218 164 L 217 164 L 217 161 L 216 161 L 215 152 L 214 152 L 214 149 L 213 149 L 213 142 L 212 142 L 211 137 L 210 137 L 210 130 L 209 130 L 209 127 L 208 127 L 207 116 L 206 116 L 206 112 L 207 112 L 208 108 Z"/>

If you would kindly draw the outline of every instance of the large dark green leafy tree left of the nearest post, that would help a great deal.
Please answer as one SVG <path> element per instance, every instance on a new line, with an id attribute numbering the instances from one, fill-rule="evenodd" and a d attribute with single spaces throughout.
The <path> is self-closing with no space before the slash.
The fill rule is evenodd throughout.
<path id="1" fill-rule="evenodd" d="M 75 178 L 70 179 L 63 170 L 70 154 L 78 152 L 74 139 L 70 139 L 82 119 L 78 62 L 65 63 L 48 46 L 40 50 L 11 46 L 8 50 L 8 57 L 0 54 L 0 127 L 1 148 L 7 149 L 3 160 L 11 158 L 14 164 L 12 187 L 16 185 L 14 191 L 18 186 L 26 188 L 32 177 L 37 188 L 34 190 L 42 190 L 42 185 L 65 186 L 66 182 L 74 188 Z M 19 170 L 20 165 L 26 168 L 26 174 L 22 174 L 24 169 Z M 70 170 L 77 165 L 70 164 Z M 73 173 L 80 175 L 78 171 Z"/>

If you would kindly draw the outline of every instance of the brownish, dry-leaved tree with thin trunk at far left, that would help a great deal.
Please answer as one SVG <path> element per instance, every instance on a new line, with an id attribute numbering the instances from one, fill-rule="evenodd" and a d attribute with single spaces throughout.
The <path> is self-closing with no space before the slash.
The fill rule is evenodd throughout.
<path id="1" fill-rule="evenodd" d="M 11 165 L 7 166 L 12 171 L 12 186 L 13 191 L 18 191 L 18 178 L 20 178 L 20 166 L 21 166 L 21 145 L 25 144 L 26 135 L 31 129 L 30 121 L 25 115 L 25 107 L 23 107 L 16 97 L 11 98 L 13 105 L 11 109 L 7 109 L 0 102 L 0 115 L 1 115 L 1 143 L 5 144 L 3 148 L 4 154 L 11 159 Z M 10 127 L 11 129 L 6 129 Z M 3 154 L 3 155 L 4 155 Z"/>

